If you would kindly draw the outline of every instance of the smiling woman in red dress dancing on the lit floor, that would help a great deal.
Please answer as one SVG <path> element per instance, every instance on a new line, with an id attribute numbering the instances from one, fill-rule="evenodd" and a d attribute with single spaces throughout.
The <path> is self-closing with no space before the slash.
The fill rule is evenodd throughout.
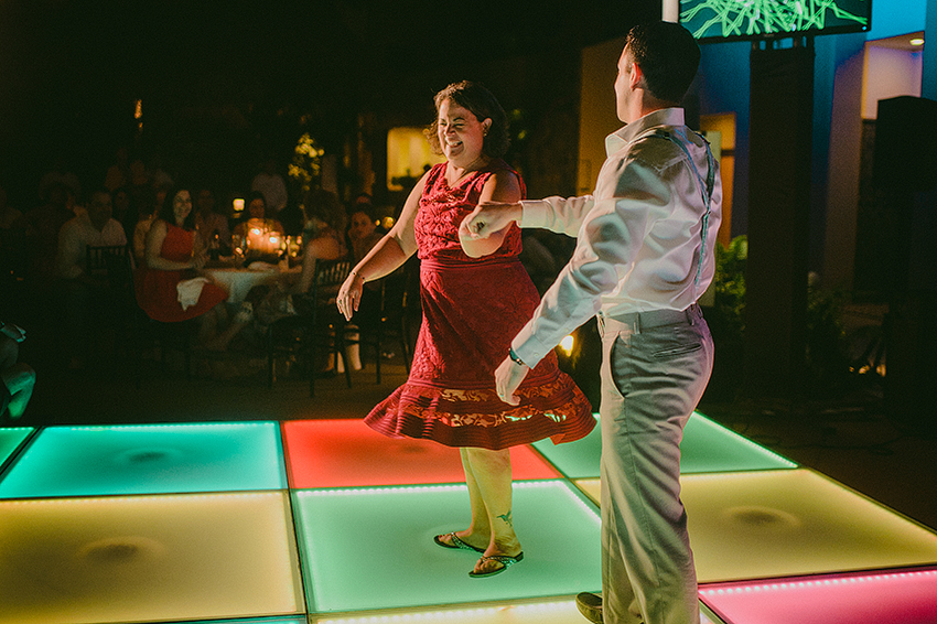
<path id="1" fill-rule="evenodd" d="M 460 448 L 472 520 L 435 541 L 481 552 L 470 575 L 488 577 L 523 558 L 511 518 L 509 448 L 548 437 L 571 442 L 595 420 L 552 354 L 519 388 L 518 406 L 497 397 L 494 370 L 539 295 L 518 260 L 516 226 L 476 240 L 461 224 L 478 202 L 519 201 L 524 184 L 500 158 L 508 146 L 507 120 L 487 89 L 450 85 L 437 94 L 435 107 L 427 138 L 446 162 L 417 183 L 397 224 L 342 286 L 337 304 L 351 319 L 366 281 L 418 252 L 423 322 L 410 377 L 365 422 L 387 435 Z"/>

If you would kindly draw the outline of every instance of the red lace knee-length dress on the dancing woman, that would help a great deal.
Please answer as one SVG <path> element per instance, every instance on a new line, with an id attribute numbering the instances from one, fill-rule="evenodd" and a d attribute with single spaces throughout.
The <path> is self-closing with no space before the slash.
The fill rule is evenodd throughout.
<path id="1" fill-rule="evenodd" d="M 508 165 L 494 161 L 454 189 L 445 182 L 445 166 L 430 172 L 416 218 L 423 322 L 410 377 L 365 422 L 391 437 L 491 450 L 583 438 L 595 426 L 591 406 L 552 352 L 520 385 L 519 406 L 498 399 L 494 370 L 540 298 L 517 258 L 516 226 L 491 256 L 470 258 L 459 244 L 459 225 L 485 182 Z"/>

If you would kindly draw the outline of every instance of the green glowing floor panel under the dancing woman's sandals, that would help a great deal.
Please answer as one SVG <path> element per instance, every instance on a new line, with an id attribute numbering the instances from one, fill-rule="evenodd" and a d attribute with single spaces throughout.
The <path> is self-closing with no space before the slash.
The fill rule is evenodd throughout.
<path id="1" fill-rule="evenodd" d="M 515 482 L 525 557 L 496 579 L 468 577 L 477 553 L 433 542 L 467 526 L 464 485 L 293 497 L 310 613 L 568 596 L 601 587 L 599 516 L 563 481 Z"/>

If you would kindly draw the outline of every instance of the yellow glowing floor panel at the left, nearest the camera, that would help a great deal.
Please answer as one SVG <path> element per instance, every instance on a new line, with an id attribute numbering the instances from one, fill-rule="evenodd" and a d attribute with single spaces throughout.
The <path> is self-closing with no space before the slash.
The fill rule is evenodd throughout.
<path id="1" fill-rule="evenodd" d="M 288 496 L 0 502 L 0 623 L 302 614 Z"/>

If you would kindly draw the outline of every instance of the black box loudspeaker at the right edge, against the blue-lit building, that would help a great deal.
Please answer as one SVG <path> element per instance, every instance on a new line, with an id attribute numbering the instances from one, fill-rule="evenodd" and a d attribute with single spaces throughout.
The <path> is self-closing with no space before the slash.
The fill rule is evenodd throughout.
<path id="1" fill-rule="evenodd" d="M 876 189 L 913 193 L 937 186 L 937 101 L 880 99 L 873 159 Z"/>

